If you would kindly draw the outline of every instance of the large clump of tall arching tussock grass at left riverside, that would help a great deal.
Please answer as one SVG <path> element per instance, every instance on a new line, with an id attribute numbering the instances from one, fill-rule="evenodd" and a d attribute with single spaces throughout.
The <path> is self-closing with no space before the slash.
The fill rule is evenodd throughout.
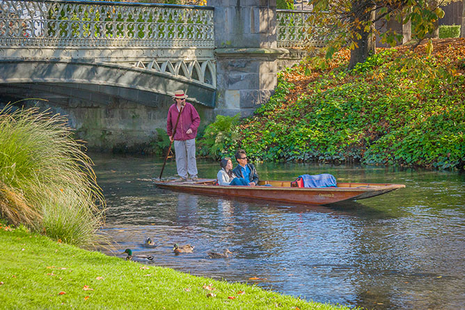
<path id="1" fill-rule="evenodd" d="M 0 111 L 0 211 L 52 238 L 95 245 L 104 199 L 67 119 L 37 108 Z"/>

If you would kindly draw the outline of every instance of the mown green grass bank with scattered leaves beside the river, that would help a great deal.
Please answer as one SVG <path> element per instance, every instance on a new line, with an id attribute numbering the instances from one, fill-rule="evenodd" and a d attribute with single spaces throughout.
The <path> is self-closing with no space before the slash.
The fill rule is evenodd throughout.
<path id="1" fill-rule="evenodd" d="M 0 226 L 2 309 L 349 309 L 124 261 Z"/>

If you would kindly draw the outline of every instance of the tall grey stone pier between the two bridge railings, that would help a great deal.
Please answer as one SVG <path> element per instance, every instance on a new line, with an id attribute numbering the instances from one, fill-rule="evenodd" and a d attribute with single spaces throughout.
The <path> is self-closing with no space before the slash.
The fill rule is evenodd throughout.
<path id="1" fill-rule="evenodd" d="M 209 0 L 214 6 L 216 114 L 249 116 L 277 83 L 276 0 Z"/>

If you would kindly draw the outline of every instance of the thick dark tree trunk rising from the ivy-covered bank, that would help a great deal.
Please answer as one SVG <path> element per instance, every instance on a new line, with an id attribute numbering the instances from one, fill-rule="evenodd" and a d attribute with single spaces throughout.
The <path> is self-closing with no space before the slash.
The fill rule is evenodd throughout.
<path id="1" fill-rule="evenodd" d="M 464 0 L 465 1 L 465 0 Z M 367 2 L 363 0 L 356 0 L 352 2 L 352 12 L 354 12 L 353 19 L 358 18 L 363 22 L 372 22 L 370 31 L 363 31 L 364 26 L 361 29 L 355 27 L 351 31 L 359 33 L 361 38 L 356 40 L 358 47 L 350 51 L 349 70 L 354 68 L 357 63 L 363 63 L 368 58 L 369 54 L 375 54 L 375 36 L 373 30 L 375 29 L 375 6 L 367 6 Z"/>

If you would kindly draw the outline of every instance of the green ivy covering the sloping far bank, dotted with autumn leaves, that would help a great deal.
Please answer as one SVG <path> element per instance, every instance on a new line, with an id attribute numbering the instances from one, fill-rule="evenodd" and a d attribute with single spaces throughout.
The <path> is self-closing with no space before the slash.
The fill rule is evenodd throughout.
<path id="1" fill-rule="evenodd" d="M 294 93 L 293 102 L 288 95 L 294 84 L 281 73 L 274 96 L 239 130 L 233 126 L 237 139 L 216 146 L 212 157 L 244 148 L 250 157 L 266 161 L 463 168 L 461 66 L 460 57 L 386 49 L 350 72 L 347 63 L 322 70 L 306 91 Z M 307 64 L 287 73 L 305 70 Z"/>

